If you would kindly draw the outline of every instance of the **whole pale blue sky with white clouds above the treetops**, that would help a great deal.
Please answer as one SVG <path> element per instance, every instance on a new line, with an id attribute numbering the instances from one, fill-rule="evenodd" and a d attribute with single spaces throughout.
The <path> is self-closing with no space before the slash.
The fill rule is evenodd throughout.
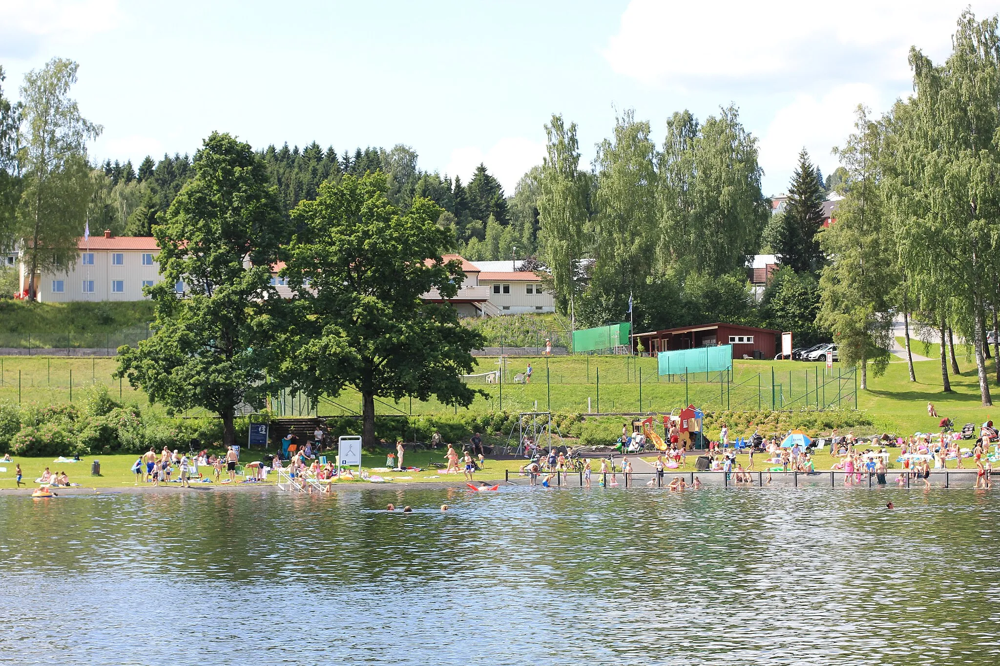
<path id="1" fill-rule="evenodd" d="M 911 91 L 915 46 L 947 57 L 966 5 L 1000 0 L 0 0 L 5 95 L 53 57 L 103 126 L 92 158 L 134 165 L 193 153 L 213 130 L 255 148 L 338 153 L 405 144 L 419 167 L 468 181 L 480 162 L 513 194 L 545 155 L 544 126 L 579 127 L 582 162 L 634 109 L 667 118 L 739 108 L 759 140 L 765 195 L 805 147 L 824 174 L 852 130 Z M 710 8 L 709 8 L 710 7 Z"/>

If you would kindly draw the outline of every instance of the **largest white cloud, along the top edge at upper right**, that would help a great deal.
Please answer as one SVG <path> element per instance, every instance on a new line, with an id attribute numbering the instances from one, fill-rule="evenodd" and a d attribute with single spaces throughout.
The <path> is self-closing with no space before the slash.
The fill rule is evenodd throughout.
<path id="1" fill-rule="evenodd" d="M 700 3 L 633 0 L 603 55 L 619 74 L 681 89 L 784 82 L 794 90 L 817 77 L 900 80 L 909 76 L 911 45 L 932 57 L 948 52 L 967 4 L 718 0 L 706 12 Z M 998 0 L 971 4 L 979 18 L 1000 10 Z"/>

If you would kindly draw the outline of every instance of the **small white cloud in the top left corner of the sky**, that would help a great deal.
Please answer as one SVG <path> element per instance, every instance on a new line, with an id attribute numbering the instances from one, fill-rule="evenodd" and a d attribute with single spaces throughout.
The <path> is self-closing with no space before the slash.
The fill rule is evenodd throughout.
<path id="1" fill-rule="evenodd" d="M 45 41 L 79 42 L 120 20 L 118 0 L 3 0 L 0 56 L 28 58 Z"/>

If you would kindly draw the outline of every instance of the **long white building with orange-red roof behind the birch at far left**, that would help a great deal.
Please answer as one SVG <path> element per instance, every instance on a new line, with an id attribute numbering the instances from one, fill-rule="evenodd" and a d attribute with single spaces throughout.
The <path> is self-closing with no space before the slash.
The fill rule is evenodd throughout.
<path id="1" fill-rule="evenodd" d="M 160 282 L 156 239 L 132 236 L 92 236 L 79 239 L 78 254 L 64 272 L 36 276 L 38 301 L 142 301 L 142 288 Z M 21 262 L 21 291 L 28 289 L 29 267 Z"/>

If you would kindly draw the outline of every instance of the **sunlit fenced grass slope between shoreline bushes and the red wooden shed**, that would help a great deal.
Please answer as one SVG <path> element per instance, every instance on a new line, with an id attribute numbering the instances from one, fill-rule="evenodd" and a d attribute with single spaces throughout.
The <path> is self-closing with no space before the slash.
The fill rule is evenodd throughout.
<path id="1" fill-rule="evenodd" d="M 497 362 L 496 357 L 478 357 L 477 372 L 494 370 L 498 367 Z M 531 383 L 514 383 L 514 375 L 523 372 L 528 362 L 534 367 Z M 866 410 L 875 423 L 872 431 L 910 434 L 936 428 L 936 419 L 927 416 L 928 401 L 934 402 L 938 413 L 952 417 L 958 427 L 968 421 L 978 423 L 1000 416 L 992 407 L 980 404 L 975 363 L 964 354 L 959 361 L 961 374 L 951 377 L 953 392 L 947 394 L 941 392 L 938 360 L 918 361 L 914 365 L 915 382 L 909 381 L 903 360 L 890 362 L 881 377 L 869 372 L 869 389 L 858 390 L 857 405 Z M 126 402 L 135 401 L 147 407 L 144 393 L 132 390 L 126 382 L 112 379 L 114 368 L 113 358 L 0 357 L 0 400 L 17 402 L 20 395 L 22 402 L 69 402 L 72 370 L 73 401 L 83 397 L 86 386 L 105 383 L 114 397 L 118 397 L 120 390 Z M 988 369 L 990 376 L 995 376 L 992 359 L 988 361 Z M 376 410 L 380 414 L 418 415 L 546 411 L 551 408 L 553 411 L 587 413 L 588 398 L 593 412 L 598 409 L 601 412 L 669 412 L 686 402 L 707 411 L 757 410 L 758 407 L 769 409 L 772 400 L 776 407 L 785 409 L 815 409 L 817 404 L 835 407 L 838 403 L 848 408 L 853 407 L 855 384 L 849 368 L 840 363 L 834 363 L 831 373 L 825 363 L 736 360 L 727 384 L 720 382 L 719 373 L 707 377 L 692 373 L 687 382 L 677 375 L 660 376 L 655 358 L 626 356 L 555 356 L 547 364 L 541 357 L 511 358 L 506 365 L 505 379 L 502 386 L 485 383 L 481 378 L 470 380 L 485 395 L 477 396 L 468 408 L 456 410 L 454 405 L 434 399 L 411 402 L 383 398 L 376 402 Z M 857 379 L 860 383 L 860 375 Z M 360 395 L 353 390 L 345 390 L 331 400 L 321 403 L 321 415 L 360 411 Z M 287 395 L 281 402 L 283 408 L 279 413 L 282 415 L 298 413 L 302 403 Z M 278 401 L 274 404 L 277 406 Z M 189 415 L 196 414 L 192 410 Z M 717 434 L 709 432 L 710 436 Z M 738 434 L 742 433 L 733 433 L 734 436 Z"/>

